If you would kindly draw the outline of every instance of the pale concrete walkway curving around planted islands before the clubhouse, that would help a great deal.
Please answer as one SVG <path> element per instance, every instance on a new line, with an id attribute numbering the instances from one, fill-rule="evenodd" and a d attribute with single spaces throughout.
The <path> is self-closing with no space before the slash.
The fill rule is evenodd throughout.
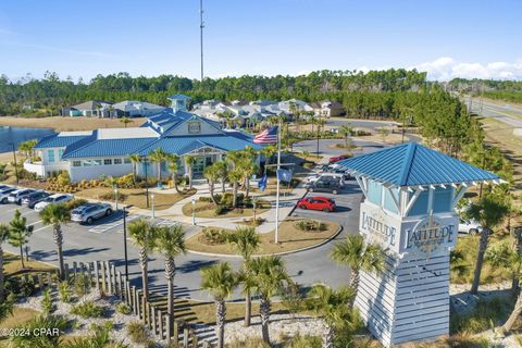
<path id="1" fill-rule="evenodd" d="M 252 182 L 251 183 L 252 187 L 256 184 L 257 183 Z M 187 203 L 190 203 L 192 199 L 199 200 L 200 197 L 203 197 L 203 196 L 208 197 L 210 195 L 209 185 L 203 181 L 199 181 L 194 185 L 194 187 L 198 190 L 196 195 L 182 199 L 181 201 L 178 201 L 177 203 L 173 204 L 167 209 L 157 210 L 156 217 L 173 220 L 173 221 L 177 221 L 185 224 L 191 224 L 192 217 L 186 216 L 183 213 L 182 211 L 183 207 Z M 219 190 L 221 192 L 221 185 L 217 185 L 216 188 L 217 188 L 216 191 Z M 232 189 L 227 187 L 226 190 L 231 191 Z M 149 189 L 149 194 L 153 194 L 153 192 L 169 194 L 173 191 L 174 191 L 173 188 L 163 189 L 163 190 L 160 190 L 158 188 Z M 290 194 L 279 196 L 279 223 L 290 214 L 290 212 L 294 210 L 294 207 L 296 206 L 296 202 L 299 199 L 301 199 L 306 194 L 307 194 L 307 189 L 304 188 L 304 184 L 299 183 L 299 185 L 296 188 L 294 188 L 294 190 Z M 257 217 L 261 217 L 265 220 L 263 224 L 261 224 L 256 228 L 257 232 L 264 234 L 264 233 L 270 233 L 271 231 L 274 231 L 275 220 L 276 220 L 275 219 L 275 206 L 276 206 L 275 195 L 268 196 L 261 192 L 261 194 L 251 194 L 251 196 L 263 198 L 264 200 L 268 200 L 272 204 L 272 208 L 270 210 L 261 214 L 257 214 Z M 148 209 L 130 208 L 129 212 L 134 214 L 152 216 L 152 210 L 148 210 Z M 237 223 L 241 222 L 246 217 L 216 217 L 216 219 L 196 217 L 196 225 L 201 227 L 214 226 L 214 227 L 221 227 L 221 228 L 235 229 L 236 227 L 241 226 L 240 224 L 237 224 Z"/>

